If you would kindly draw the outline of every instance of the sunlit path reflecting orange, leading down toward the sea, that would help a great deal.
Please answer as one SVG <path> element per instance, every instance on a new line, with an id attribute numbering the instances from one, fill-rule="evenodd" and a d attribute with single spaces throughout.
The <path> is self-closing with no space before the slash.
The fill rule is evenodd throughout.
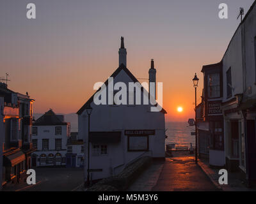
<path id="1" fill-rule="evenodd" d="M 128 191 L 220 191 L 207 174 L 195 164 L 195 157 L 177 151 L 173 157 L 157 161 L 143 172 Z"/>

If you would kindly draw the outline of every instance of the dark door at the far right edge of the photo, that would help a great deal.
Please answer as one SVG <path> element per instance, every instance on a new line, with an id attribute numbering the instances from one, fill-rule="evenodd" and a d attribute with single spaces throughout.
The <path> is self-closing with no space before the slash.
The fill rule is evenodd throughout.
<path id="1" fill-rule="evenodd" d="M 256 180 L 256 136 L 255 120 L 246 120 L 248 147 L 248 179 Z"/>

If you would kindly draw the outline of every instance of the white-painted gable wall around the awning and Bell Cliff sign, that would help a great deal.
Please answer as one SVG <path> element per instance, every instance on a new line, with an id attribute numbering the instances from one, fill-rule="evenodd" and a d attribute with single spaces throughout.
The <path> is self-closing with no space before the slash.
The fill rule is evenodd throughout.
<path id="1" fill-rule="evenodd" d="M 134 82 L 133 76 L 127 74 L 127 68 L 122 66 L 118 68 L 118 73 L 114 77 L 114 85 L 117 82 L 124 82 L 129 87 L 129 82 Z M 106 86 L 108 89 L 108 85 Z M 128 91 L 127 91 L 128 93 Z M 134 99 L 135 99 L 134 92 Z M 108 99 L 108 92 L 107 92 Z M 127 97 L 127 102 L 128 102 Z M 143 92 L 141 92 L 141 101 L 143 101 Z M 97 180 L 111 177 L 122 171 L 125 166 L 134 159 L 141 156 L 152 156 L 156 158 L 165 157 L 165 124 L 163 112 L 150 112 L 151 105 L 95 105 L 92 101 L 92 114 L 90 115 L 90 132 L 120 132 L 119 142 L 90 142 L 90 179 Z M 84 175 L 87 175 L 88 168 L 88 114 L 83 107 L 77 112 L 79 138 L 84 136 Z M 125 130 L 154 130 L 154 135 L 148 136 L 148 150 L 131 151 L 128 149 L 128 136 Z M 137 140 L 137 139 L 134 139 Z M 142 144 L 143 142 L 141 142 Z M 137 143 L 140 145 L 140 142 Z M 93 155 L 93 147 L 106 147 L 104 154 Z M 84 178 L 86 180 L 87 177 Z"/>

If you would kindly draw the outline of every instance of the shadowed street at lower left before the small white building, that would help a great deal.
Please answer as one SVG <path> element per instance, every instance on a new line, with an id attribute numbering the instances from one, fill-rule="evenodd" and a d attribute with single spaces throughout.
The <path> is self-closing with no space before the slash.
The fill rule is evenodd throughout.
<path id="1" fill-rule="evenodd" d="M 83 183 L 83 168 L 35 168 L 36 184 L 12 185 L 4 191 L 74 191 Z"/>

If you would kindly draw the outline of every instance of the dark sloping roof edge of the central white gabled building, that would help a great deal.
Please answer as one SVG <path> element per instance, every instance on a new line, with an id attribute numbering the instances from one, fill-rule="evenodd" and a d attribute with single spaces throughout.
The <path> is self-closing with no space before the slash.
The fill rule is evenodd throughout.
<path id="1" fill-rule="evenodd" d="M 139 82 L 139 81 L 137 80 L 137 78 L 134 77 L 134 75 L 132 75 L 131 71 L 129 71 L 129 69 L 126 68 L 126 66 L 125 66 L 124 64 L 120 64 L 120 66 L 116 69 L 116 71 L 114 71 L 114 73 L 113 73 L 110 77 L 115 78 L 115 77 L 118 75 L 118 73 L 120 73 L 120 71 L 122 71 L 122 70 L 124 70 L 125 73 L 127 73 L 127 75 L 132 79 L 132 81 L 133 81 L 134 83 Z M 139 82 L 139 83 L 140 83 L 140 82 Z M 108 85 L 108 80 L 106 80 L 106 82 L 105 82 L 104 84 L 107 86 L 107 85 Z M 143 90 L 143 89 L 144 89 L 144 88 L 141 87 L 141 90 Z M 77 111 L 77 115 L 81 115 L 81 113 L 83 113 L 83 111 L 90 105 L 90 103 L 93 102 L 93 97 L 94 97 L 94 95 L 95 95 L 97 92 L 99 92 L 99 91 L 100 91 L 100 89 L 99 89 L 98 91 L 96 91 L 96 92 L 92 95 L 92 97 L 91 97 L 90 99 L 88 99 L 88 101 L 87 101 L 86 103 L 84 103 L 84 105 Z M 166 110 L 164 110 L 164 108 L 162 108 L 161 112 L 167 113 Z"/>

